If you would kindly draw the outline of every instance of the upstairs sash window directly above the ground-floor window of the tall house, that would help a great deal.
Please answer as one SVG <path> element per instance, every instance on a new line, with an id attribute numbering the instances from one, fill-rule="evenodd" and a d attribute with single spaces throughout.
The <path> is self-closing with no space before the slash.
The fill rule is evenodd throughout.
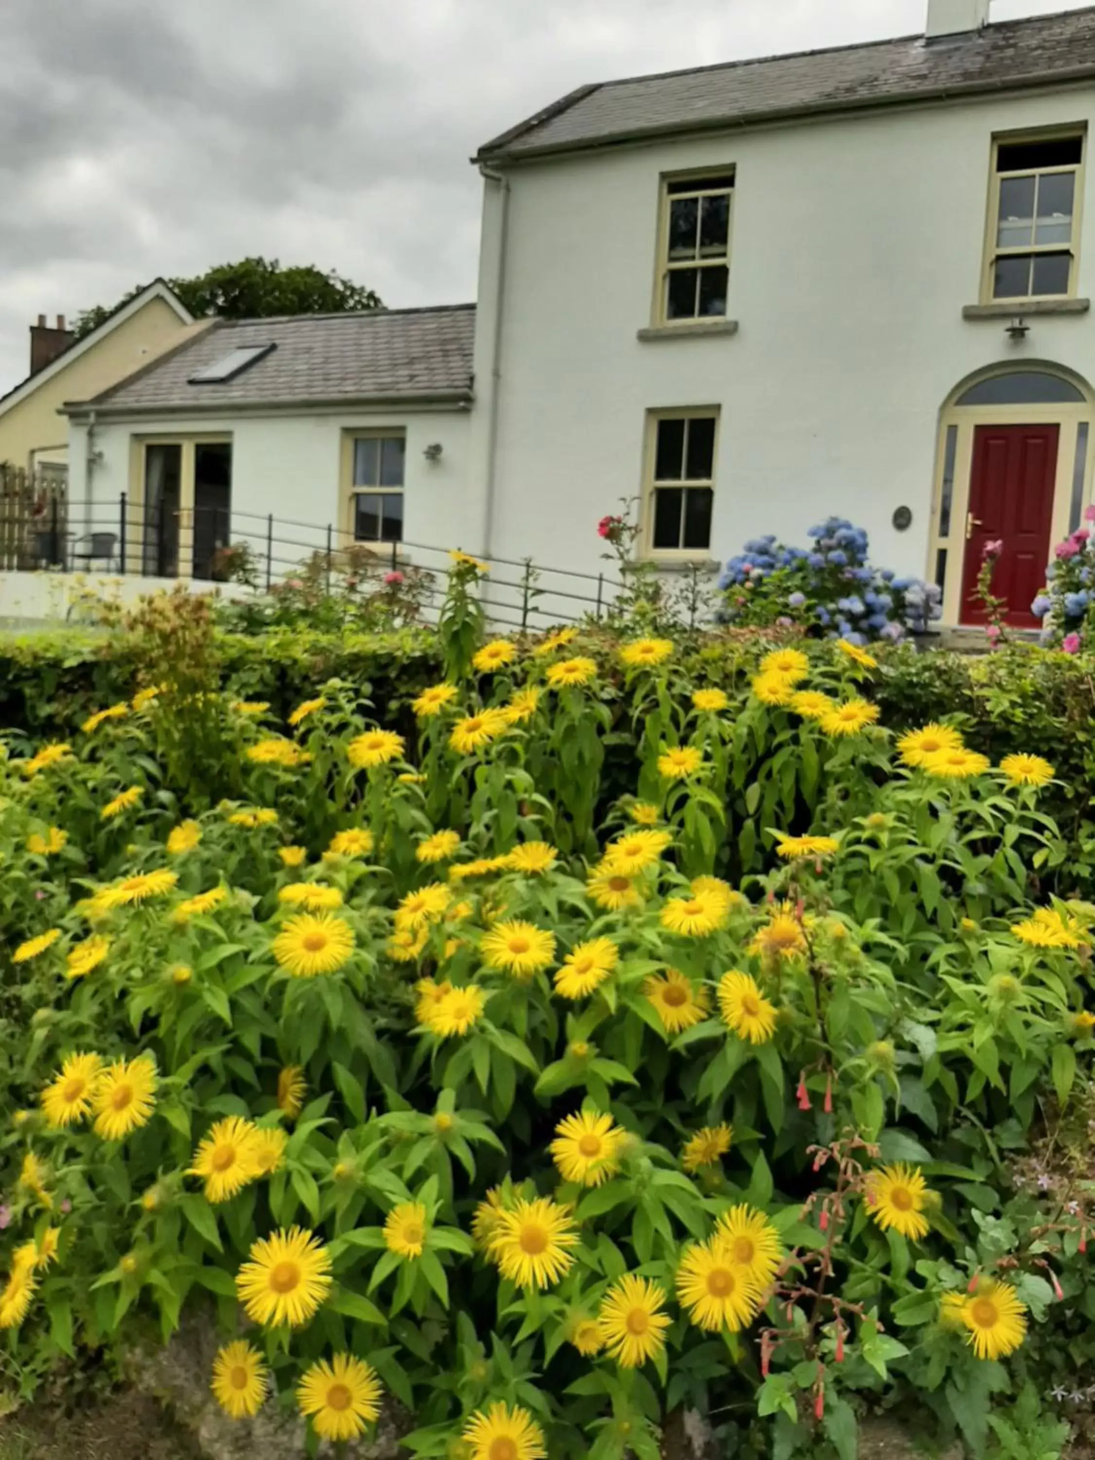
<path id="1" fill-rule="evenodd" d="M 658 324 L 726 318 L 733 196 L 730 169 L 661 180 Z"/>

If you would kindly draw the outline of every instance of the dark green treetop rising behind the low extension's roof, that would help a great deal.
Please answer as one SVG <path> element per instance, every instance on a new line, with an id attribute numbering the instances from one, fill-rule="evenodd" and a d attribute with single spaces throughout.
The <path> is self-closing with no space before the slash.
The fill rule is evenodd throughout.
<path id="1" fill-rule="evenodd" d="M 276 314 L 342 314 L 384 308 L 378 293 L 343 279 L 334 270 L 324 273 L 315 264 L 283 269 L 276 258 L 241 258 L 235 264 L 216 264 L 193 279 L 168 279 L 168 283 L 194 318 L 218 314 L 225 320 L 256 320 Z M 76 318 L 76 339 L 98 328 L 114 310 L 145 288 L 147 286 L 137 285 L 110 308 L 96 304 L 85 310 Z"/>

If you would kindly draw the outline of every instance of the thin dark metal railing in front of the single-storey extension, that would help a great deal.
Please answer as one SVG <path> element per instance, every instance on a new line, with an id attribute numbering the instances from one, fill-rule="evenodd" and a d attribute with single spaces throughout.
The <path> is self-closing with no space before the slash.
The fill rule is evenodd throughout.
<path id="1" fill-rule="evenodd" d="M 177 508 L 114 499 L 41 498 L 15 521 L 3 517 L 0 568 L 99 572 L 238 584 L 234 593 L 315 587 L 381 591 L 403 575 L 432 618 L 445 596 L 448 548 L 418 542 L 361 542 L 334 523 L 304 523 L 273 512 L 210 505 Z M 454 545 L 457 546 L 457 545 Z M 607 572 L 552 568 L 531 558 L 485 558 L 480 597 L 492 623 L 518 629 L 602 619 L 626 584 Z"/>

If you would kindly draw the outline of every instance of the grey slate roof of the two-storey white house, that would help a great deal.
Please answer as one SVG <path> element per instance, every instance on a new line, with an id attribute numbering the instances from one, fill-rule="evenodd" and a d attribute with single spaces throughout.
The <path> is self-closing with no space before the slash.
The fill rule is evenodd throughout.
<path id="1" fill-rule="evenodd" d="M 1047 86 L 1095 76 L 1095 7 L 956 36 L 800 51 L 580 86 L 480 147 L 531 158 L 642 136 Z"/>

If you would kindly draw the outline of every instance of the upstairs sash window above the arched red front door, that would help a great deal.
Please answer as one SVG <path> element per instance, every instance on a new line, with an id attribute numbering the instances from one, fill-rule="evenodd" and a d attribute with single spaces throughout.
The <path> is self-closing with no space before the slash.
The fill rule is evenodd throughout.
<path id="1" fill-rule="evenodd" d="M 993 140 L 986 302 L 1075 296 L 1085 146 L 1082 128 Z"/>

